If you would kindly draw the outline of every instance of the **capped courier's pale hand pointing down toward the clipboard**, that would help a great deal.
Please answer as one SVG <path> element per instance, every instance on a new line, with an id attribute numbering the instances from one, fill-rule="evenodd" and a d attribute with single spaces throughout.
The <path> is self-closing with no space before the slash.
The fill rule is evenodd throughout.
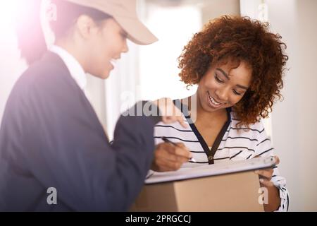
<path id="1" fill-rule="evenodd" d="M 155 100 L 154 104 L 159 107 L 164 124 L 171 124 L 178 121 L 185 129 L 188 127 L 185 123 L 185 119 L 182 117 L 182 112 L 174 105 L 173 100 L 170 98 L 161 98 Z"/>

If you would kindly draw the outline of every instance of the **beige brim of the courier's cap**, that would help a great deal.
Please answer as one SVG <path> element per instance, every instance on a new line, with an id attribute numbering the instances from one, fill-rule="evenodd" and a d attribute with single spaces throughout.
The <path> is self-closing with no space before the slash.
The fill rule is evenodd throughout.
<path id="1" fill-rule="evenodd" d="M 136 44 L 152 44 L 159 41 L 155 35 L 153 35 L 149 29 L 137 18 L 125 18 L 119 16 L 113 16 L 117 22 L 121 25 L 123 30 L 128 33 L 128 39 Z"/>

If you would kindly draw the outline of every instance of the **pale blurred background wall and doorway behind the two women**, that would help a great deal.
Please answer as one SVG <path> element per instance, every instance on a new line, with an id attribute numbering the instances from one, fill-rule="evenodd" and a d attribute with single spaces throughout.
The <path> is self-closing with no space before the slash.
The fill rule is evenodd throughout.
<path id="1" fill-rule="evenodd" d="M 15 81 L 26 69 L 19 59 L 12 15 L 15 1 L 0 1 L 0 120 Z M 86 94 L 112 138 L 120 112 L 137 100 L 192 95 L 178 78 L 177 58 L 195 32 L 209 19 L 243 15 L 271 24 L 287 44 L 288 71 L 282 94 L 266 120 L 287 179 L 291 211 L 317 211 L 316 0 L 139 0 L 140 18 L 159 37 L 145 47 L 128 43 L 130 52 L 107 81 L 87 76 Z M 44 23 L 45 26 L 45 23 Z M 52 43 L 46 32 L 47 42 Z"/>

